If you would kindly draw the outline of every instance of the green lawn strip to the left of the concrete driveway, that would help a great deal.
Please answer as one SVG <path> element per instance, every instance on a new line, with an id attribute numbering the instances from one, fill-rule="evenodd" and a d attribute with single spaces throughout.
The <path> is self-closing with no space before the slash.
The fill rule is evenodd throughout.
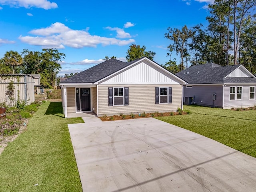
<path id="1" fill-rule="evenodd" d="M 61 102 L 42 104 L 27 129 L 4 149 L 1 192 L 82 191 L 67 124 L 83 120 L 65 119 L 61 110 Z"/>

